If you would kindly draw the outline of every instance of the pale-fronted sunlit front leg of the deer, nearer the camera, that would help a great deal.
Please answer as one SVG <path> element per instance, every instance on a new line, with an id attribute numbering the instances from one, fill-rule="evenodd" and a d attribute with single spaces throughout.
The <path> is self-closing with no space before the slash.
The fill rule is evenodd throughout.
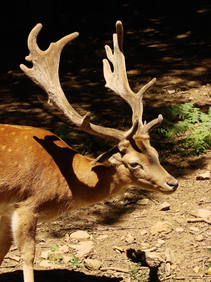
<path id="1" fill-rule="evenodd" d="M 12 231 L 22 258 L 24 282 L 34 282 L 36 224 L 37 217 L 26 208 L 17 209 L 12 216 Z"/>

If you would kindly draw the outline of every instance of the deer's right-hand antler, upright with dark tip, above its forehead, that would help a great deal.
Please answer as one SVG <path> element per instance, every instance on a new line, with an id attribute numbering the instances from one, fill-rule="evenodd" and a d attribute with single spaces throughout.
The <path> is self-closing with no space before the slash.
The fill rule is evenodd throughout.
<path id="1" fill-rule="evenodd" d="M 143 86 L 137 94 L 130 89 L 122 49 L 123 28 L 121 21 L 117 21 L 116 23 L 116 32 L 117 33 L 113 35 L 114 54 L 112 54 L 111 48 L 108 45 L 105 45 L 107 57 L 114 66 L 114 72 L 112 73 L 108 60 L 103 60 L 103 70 L 106 80 L 105 87 L 112 89 L 131 106 L 133 111 L 132 121 L 134 122 L 136 118 L 138 118 L 139 121 L 139 127 L 136 134 L 149 133 L 157 125 L 160 125 L 163 120 L 162 115 L 159 115 L 158 118 L 149 122 L 147 125 L 146 122 L 144 124 L 142 122 L 143 95 L 148 89 L 150 89 L 150 87 L 153 86 L 156 82 L 156 78 Z"/>

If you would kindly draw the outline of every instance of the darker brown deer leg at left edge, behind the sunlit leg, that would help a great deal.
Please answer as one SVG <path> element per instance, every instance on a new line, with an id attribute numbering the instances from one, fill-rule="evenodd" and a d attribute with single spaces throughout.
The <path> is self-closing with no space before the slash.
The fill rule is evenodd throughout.
<path id="1" fill-rule="evenodd" d="M 6 216 L 0 217 L 0 265 L 13 242 L 10 224 L 10 218 Z"/>

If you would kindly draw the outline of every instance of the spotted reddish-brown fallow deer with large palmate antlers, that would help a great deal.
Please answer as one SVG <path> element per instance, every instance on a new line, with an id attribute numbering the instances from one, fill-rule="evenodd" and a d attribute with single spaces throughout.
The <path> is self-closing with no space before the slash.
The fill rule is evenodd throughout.
<path id="1" fill-rule="evenodd" d="M 135 94 L 129 87 L 122 49 L 123 28 L 116 23 L 114 52 L 106 45 L 109 61 L 103 60 L 110 88 L 132 109 L 132 126 L 128 131 L 90 123 L 91 113 L 83 117 L 69 104 L 61 89 L 58 67 L 61 51 L 78 33 L 69 34 L 45 51 L 39 49 L 37 24 L 28 37 L 33 64 L 21 70 L 47 93 L 40 102 L 58 109 L 78 128 L 89 134 L 115 141 L 110 151 L 96 159 L 82 156 L 55 134 L 40 128 L 0 125 L 0 265 L 12 243 L 20 251 L 24 282 L 33 282 L 37 222 L 50 222 L 68 211 L 99 203 L 123 194 L 128 185 L 163 194 L 172 194 L 178 180 L 159 163 L 157 151 L 150 145 L 150 131 L 162 123 L 162 115 L 149 123 L 142 122 L 143 95 L 156 79 Z"/>

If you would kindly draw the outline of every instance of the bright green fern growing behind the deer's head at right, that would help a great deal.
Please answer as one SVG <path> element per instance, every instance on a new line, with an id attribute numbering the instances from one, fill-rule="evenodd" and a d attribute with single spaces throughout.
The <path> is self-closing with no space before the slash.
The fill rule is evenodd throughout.
<path id="1" fill-rule="evenodd" d="M 211 108 L 205 114 L 195 108 L 193 103 L 184 103 L 171 108 L 165 107 L 160 111 L 163 123 L 156 130 L 165 134 L 174 144 L 175 137 L 185 135 L 178 142 L 186 150 L 186 154 L 203 154 L 211 146 Z"/>

